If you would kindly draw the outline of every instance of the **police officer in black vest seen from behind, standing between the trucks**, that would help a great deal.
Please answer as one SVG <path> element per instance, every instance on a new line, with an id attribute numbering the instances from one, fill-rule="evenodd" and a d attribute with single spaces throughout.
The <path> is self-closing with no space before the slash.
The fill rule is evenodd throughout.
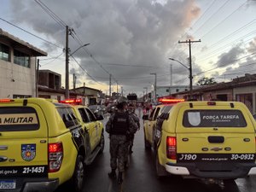
<path id="1" fill-rule="evenodd" d="M 117 112 L 113 113 L 106 124 L 106 131 L 109 133 L 110 166 L 112 171 L 109 177 L 115 178 L 115 170 L 118 168 L 118 183 L 123 182 L 125 171 L 125 155 L 127 153 L 127 134 L 137 131 L 137 124 L 131 118 L 127 110 L 127 103 L 120 102 L 117 105 Z"/>

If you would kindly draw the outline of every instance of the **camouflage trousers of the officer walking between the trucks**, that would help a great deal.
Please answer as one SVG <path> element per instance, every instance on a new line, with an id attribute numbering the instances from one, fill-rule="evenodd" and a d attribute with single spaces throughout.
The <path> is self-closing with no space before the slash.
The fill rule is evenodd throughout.
<path id="1" fill-rule="evenodd" d="M 128 154 L 126 136 L 112 135 L 110 136 L 110 166 L 111 169 L 118 168 L 119 172 L 125 171 L 125 158 Z"/>

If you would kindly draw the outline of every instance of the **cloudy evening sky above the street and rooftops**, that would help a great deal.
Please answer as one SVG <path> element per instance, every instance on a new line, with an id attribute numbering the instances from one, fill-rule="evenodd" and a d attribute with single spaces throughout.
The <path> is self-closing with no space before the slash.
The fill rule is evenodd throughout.
<path id="1" fill-rule="evenodd" d="M 40 68 L 61 73 L 65 86 L 69 26 L 70 53 L 90 44 L 70 58 L 71 87 L 75 73 L 77 87 L 108 94 L 111 75 L 112 91 L 142 96 L 153 90 L 150 73 L 158 86 L 189 85 L 177 62 L 189 67 L 189 44 L 178 41 L 201 40 L 191 44 L 194 84 L 256 73 L 255 10 L 255 0 L 1 0 L 0 28 L 46 51 Z"/>

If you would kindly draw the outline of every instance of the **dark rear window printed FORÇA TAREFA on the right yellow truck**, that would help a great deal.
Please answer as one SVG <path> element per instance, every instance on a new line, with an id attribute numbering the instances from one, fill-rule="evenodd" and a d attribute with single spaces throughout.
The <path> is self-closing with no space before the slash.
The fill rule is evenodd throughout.
<path id="1" fill-rule="evenodd" d="M 187 110 L 183 113 L 184 127 L 246 127 L 240 110 Z"/>

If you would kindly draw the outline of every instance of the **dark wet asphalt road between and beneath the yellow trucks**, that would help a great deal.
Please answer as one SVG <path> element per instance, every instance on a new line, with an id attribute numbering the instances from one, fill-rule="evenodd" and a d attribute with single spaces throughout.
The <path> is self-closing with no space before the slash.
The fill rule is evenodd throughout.
<path id="1" fill-rule="evenodd" d="M 108 119 L 108 118 L 107 118 Z M 105 124 L 107 119 L 104 119 Z M 105 149 L 103 154 L 86 167 L 84 192 L 255 192 L 256 176 L 236 179 L 233 182 L 218 184 L 203 183 L 196 179 L 181 177 L 164 177 L 160 180 L 155 177 L 153 153 L 144 149 L 143 122 L 141 130 L 137 132 L 130 157 L 130 166 L 125 171 L 125 180 L 122 186 L 116 180 L 108 178 L 109 140 L 105 132 Z M 67 184 L 63 184 L 55 192 L 73 191 Z"/>

